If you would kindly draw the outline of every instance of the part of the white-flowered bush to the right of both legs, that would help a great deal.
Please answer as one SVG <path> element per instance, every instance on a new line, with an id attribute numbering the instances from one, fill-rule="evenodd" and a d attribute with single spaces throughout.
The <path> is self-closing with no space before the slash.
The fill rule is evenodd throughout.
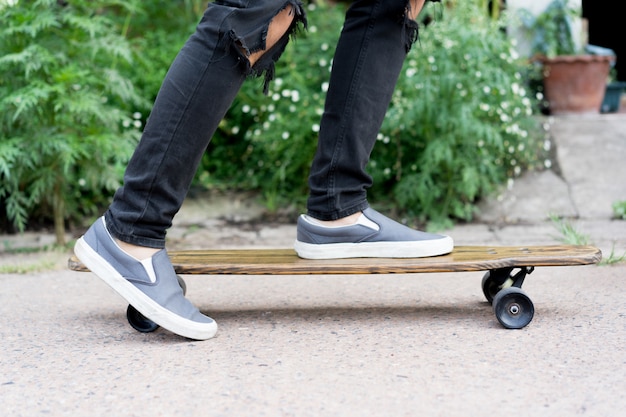
<path id="1" fill-rule="evenodd" d="M 499 23 L 456 2 L 422 32 L 372 156 L 374 198 L 445 226 L 471 220 L 477 200 L 542 166 L 526 64 Z"/>

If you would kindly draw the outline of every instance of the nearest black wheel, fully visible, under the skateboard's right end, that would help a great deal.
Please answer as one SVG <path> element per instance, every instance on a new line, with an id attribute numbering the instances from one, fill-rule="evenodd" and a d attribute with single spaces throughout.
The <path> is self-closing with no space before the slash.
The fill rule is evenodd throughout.
<path id="1" fill-rule="evenodd" d="M 524 290 L 509 287 L 501 290 L 493 299 L 493 312 L 507 329 L 521 329 L 530 323 L 535 307 Z"/>

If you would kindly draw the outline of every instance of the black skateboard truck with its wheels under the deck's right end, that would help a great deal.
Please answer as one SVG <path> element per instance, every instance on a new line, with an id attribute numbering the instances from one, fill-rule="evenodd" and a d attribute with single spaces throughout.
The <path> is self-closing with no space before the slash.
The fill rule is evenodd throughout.
<path id="1" fill-rule="evenodd" d="M 493 269 L 485 273 L 482 281 L 483 294 L 493 306 L 496 318 L 507 329 L 521 329 L 535 315 L 532 300 L 522 290 L 522 284 L 535 267 L 523 266 L 513 274 L 515 268 Z"/>

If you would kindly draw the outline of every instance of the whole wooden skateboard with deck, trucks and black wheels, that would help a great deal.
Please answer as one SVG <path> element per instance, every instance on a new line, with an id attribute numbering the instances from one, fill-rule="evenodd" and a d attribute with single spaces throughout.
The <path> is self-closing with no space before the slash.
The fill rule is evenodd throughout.
<path id="1" fill-rule="evenodd" d="M 521 329 L 533 319 L 535 308 L 522 290 L 524 279 L 536 267 L 597 264 L 601 251 L 593 246 L 457 246 L 447 255 L 427 258 L 350 258 L 309 260 L 292 249 L 187 250 L 169 253 L 179 284 L 180 275 L 341 275 L 341 274 L 418 274 L 430 272 L 480 272 L 481 286 L 500 324 Z M 69 268 L 88 271 L 76 258 Z M 127 308 L 130 325 L 140 332 L 151 332 L 158 325 L 143 317 L 132 306 Z"/>

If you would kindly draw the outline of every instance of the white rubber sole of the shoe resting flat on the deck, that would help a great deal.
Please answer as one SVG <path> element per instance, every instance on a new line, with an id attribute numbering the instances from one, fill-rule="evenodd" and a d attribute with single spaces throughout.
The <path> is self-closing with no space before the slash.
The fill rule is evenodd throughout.
<path id="1" fill-rule="evenodd" d="M 445 236 L 437 240 L 412 242 L 364 242 L 311 244 L 296 240 L 294 249 L 304 259 L 343 258 L 425 258 L 445 255 L 454 249 L 454 241 Z"/>

